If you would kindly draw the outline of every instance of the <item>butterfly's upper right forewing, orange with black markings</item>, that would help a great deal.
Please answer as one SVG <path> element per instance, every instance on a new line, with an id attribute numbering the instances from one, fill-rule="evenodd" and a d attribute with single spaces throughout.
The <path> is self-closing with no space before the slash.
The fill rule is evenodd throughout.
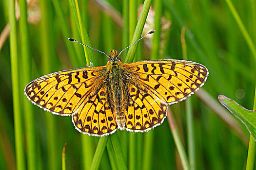
<path id="1" fill-rule="evenodd" d="M 205 66 L 183 60 L 138 61 L 123 65 L 133 77 L 134 84 L 141 84 L 160 101 L 168 104 L 188 98 L 207 79 Z"/>

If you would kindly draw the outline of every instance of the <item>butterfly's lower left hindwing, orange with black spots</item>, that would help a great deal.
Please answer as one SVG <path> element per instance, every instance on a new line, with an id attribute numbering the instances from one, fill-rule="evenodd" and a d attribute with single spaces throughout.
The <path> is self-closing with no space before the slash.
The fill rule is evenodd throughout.
<path id="1" fill-rule="evenodd" d="M 98 87 L 97 93 L 89 96 L 72 116 L 72 121 L 79 132 L 105 136 L 116 131 L 116 116 L 107 102 L 106 93 L 104 86 Z"/>

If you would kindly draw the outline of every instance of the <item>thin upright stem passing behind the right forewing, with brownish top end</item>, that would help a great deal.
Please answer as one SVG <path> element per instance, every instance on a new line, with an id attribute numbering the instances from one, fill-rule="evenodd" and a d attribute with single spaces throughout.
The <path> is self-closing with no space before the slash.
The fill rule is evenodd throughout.
<path id="1" fill-rule="evenodd" d="M 187 60 L 187 46 L 185 40 L 185 28 L 181 29 L 181 46 L 182 46 L 182 56 L 184 60 Z M 195 170 L 195 138 L 194 138 L 194 121 L 193 112 L 191 105 L 191 98 L 186 99 L 186 120 L 187 120 L 187 134 L 188 134 L 188 158 L 190 170 Z"/>

